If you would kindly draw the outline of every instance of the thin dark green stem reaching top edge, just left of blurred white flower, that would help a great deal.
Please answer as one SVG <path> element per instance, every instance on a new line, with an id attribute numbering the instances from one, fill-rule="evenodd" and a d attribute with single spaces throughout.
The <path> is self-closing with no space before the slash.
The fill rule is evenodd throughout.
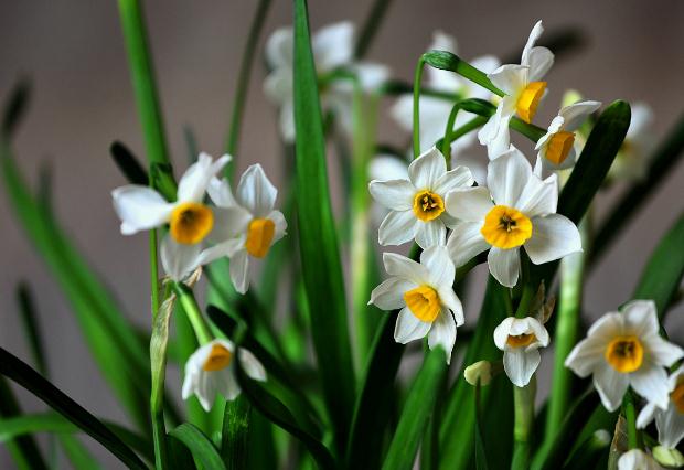
<path id="1" fill-rule="evenodd" d="M 237 147 L 239 143 L 241 127 L 243 121 L 243 115 L 245 109 L 245 100 L 247 99 L 247 90 L 249 88 L 249 78 L 252 76 L 252 65 L 254 64 L 257 44 L 264 23 L 266 21 L 266 14 L 270 7 L 271 0 L 259 0 L 254 19 L 252 20 L 252 26 L 249 28 L 249 34 L 247 35 L 247 42 L 243 51 L 242 61 L 239 64 L 239 72 L 237 75 L 237 83 L 235 85 L 235 95 L 233 97 L 233 113 L 231 115 L 231 128 L 228 131 L 228 138 L 226 140 L 226 152 L 233 156 L 233 161 L 225 168 L 225 175 L 228 179 L 233 178 L 233 169 L 235 168 L 235 157 L 237 153 Z"/>

